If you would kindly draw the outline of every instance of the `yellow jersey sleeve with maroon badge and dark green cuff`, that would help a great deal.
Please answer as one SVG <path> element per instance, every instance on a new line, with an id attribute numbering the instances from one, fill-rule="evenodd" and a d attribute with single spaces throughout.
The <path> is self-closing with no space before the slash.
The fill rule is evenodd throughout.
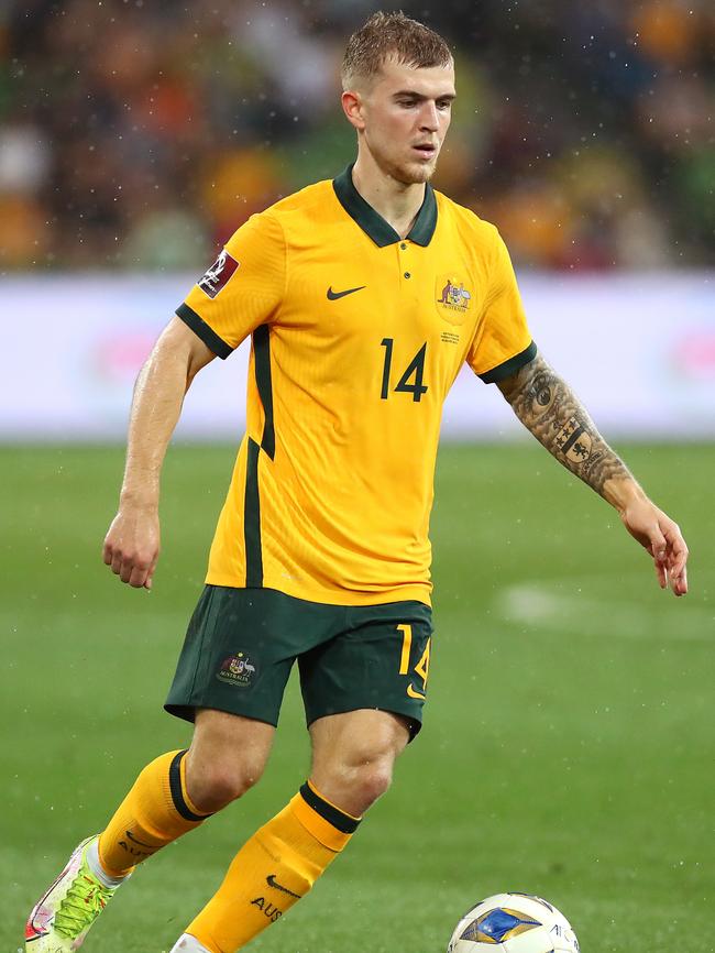
<path id="1" fill-rule="evenodd" d="M 267 212 L 233 233 L 176 314 L 219 358 L 275 318 L 286 283 L 285 239 Z"/>

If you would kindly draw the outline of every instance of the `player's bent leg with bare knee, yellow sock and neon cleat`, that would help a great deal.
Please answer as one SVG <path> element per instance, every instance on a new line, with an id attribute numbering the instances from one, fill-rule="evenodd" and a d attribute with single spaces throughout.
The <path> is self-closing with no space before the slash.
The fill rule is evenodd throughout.
<path id="1" fill-rule="evenodd" d="M 252 719 L 202 710 L 191 747 L 169 752 L 139 775 L 101 834 L 82 841 L 32 910 L 31 953 L 76 950 L 134 866 L 255 784 L 275 729 Z"/>

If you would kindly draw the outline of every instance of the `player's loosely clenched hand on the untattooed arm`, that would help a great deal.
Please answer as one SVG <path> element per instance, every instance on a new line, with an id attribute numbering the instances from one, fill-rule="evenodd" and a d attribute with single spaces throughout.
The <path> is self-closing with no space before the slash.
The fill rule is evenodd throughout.
<path id="1" fill-rule="evenodd" d="M 122 582 L 135 589 L 151 589 L 158 552 L 156 510 L 121 507 L 105 537 L 105 563 Z"/>

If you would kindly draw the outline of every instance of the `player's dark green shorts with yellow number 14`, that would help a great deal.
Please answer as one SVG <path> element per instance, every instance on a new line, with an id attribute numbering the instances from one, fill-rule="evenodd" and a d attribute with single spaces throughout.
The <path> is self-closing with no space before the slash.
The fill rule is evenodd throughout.
<path id="1" fill-rule="evenodd" d="M 432 634 L 421 602 L 326 605 L 274 589 L 207 585 L 164 708 L 210 708 L 276 725 L 298 660 L 306 722 L 380 709 L 421 727 Z"/>

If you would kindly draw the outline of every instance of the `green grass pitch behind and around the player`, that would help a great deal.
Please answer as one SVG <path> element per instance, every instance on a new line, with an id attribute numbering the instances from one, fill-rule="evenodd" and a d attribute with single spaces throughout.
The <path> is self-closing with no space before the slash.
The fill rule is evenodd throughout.
<path id="1" fill-rule="evenodd" d="M 515 889 L 561 907 L 586 953 L 715 951 L 715 447 L 619 449 L 683 527 L 691 594 L 661 592 L 616 514 L 538 446 L 444 447 L 425 730 L 345 855 L 252 950 L 440 953 L 468 907 Z M 232 462 L 172 449 L 150 594 L 100 559 L 119 448 L 0 451 L 3 953 L 139 769 L 189 740 L 162 702 Z M 292 683 L 261 785 L 140 869 L 88 953 L 170 949 L 306 770 Z"/>

